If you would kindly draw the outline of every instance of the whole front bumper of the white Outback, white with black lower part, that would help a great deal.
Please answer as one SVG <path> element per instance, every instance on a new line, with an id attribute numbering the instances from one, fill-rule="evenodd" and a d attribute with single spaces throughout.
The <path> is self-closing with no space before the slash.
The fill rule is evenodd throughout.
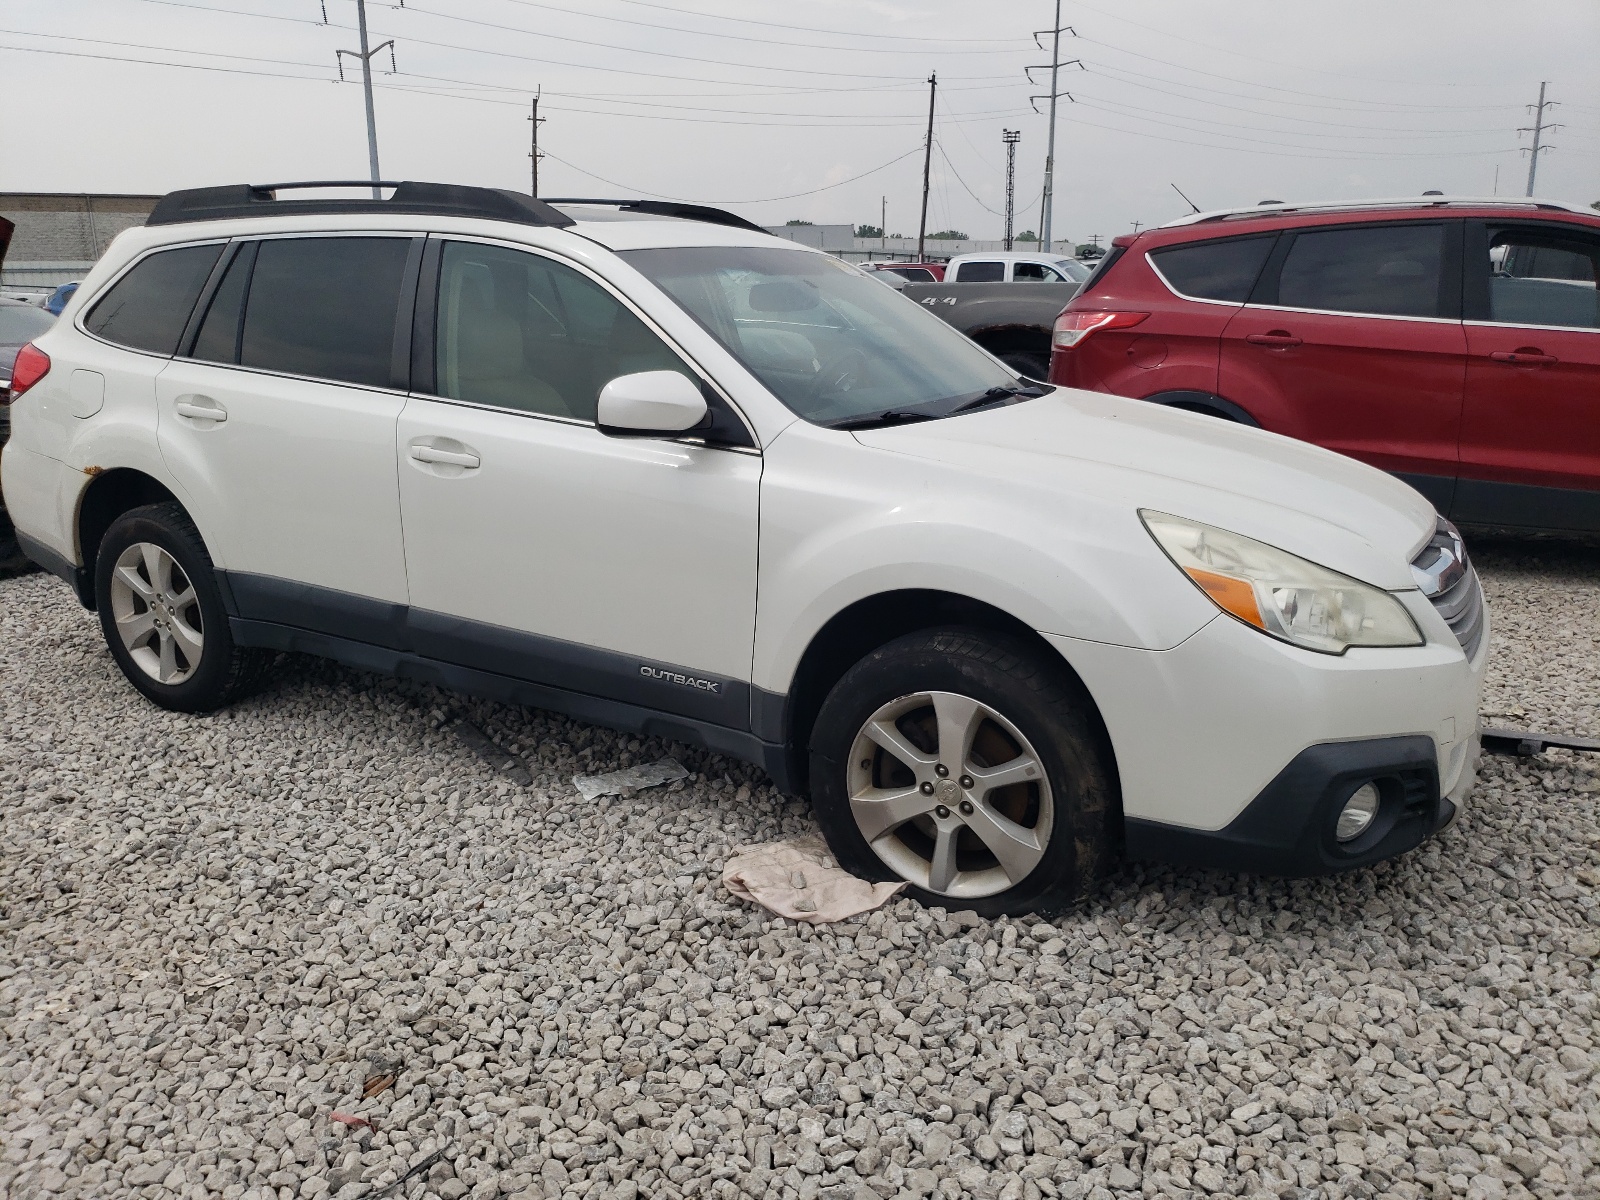
<path id="1" fill-rule="evenodd" d="M 1421 594 L 1400 598 L 1427 645 L 1314 654 L 1226 616 L 1165 651 L 1046 634 L 1106 722 L 1130 851 L 1318 874 L 1402 853 L 1448 824 L 1472 787 L 1486 638 L 1469 661 Z M 1395 746 L 1406 749 L 1386 762 Z M 1290 853 L 1346 770 L 1387 770 L 1414 790 L 1411 773 L 1426 763 L 1421 805 L 1430 814 L 1413 811 L 1403 824 L 1427 832 L 1410 843 L 1400 834 L 1382 846 L 1360 842 L 1355 856 Z M 1274 806 L 1282 818 L 1246 816 Z M 1182 850 L 1200 845 L 1210 850 Z"/>

